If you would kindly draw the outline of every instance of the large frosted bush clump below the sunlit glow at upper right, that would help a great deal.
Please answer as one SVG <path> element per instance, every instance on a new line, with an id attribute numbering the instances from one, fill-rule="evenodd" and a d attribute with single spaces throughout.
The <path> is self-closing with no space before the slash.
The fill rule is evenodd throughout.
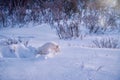
<path id="1" fill-rule="evenodd" d="M 119 26 L 119 14 L 111 8 L 82 10 L 81 21 L 89 33 L 104 33 Z"/>

